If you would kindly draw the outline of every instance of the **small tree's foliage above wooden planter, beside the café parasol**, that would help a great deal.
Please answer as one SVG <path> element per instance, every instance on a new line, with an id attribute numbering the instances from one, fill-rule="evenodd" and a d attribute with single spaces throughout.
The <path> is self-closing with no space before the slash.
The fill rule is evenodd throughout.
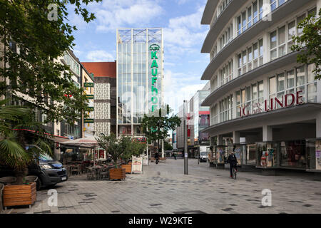
<path id="1" fill-rule="evenodd" d="M 108 154 L 111 155 L 114 165 L 117 168 L 117 161 L 120 157 L 126 157 L 126 152 L 128 150 L 129 144 L 131 143 L 131 138 L 122 136 L 121 138 L 116 138 L 116 135 L 111 133 L 111 135 L 101 134 L 96 138 L 98 144 L 103 147 Z"/>

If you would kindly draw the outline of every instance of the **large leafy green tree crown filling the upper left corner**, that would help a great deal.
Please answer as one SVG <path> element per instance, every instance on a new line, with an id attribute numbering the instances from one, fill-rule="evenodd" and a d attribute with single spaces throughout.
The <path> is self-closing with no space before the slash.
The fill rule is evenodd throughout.
<path id="1" fill-rule="evenodd" d="M 67 22 L 66 5 L 73 4 L 75 13 L 89 22 L 95 16 L 82 4 L 93 1 L 101 0 L 0 0 L 0 43 L 4 44 L 0 62 L 7 63 L 0 68 L 5 79 L 0 82 L 0 96 L 29 95 L 30 108 L 40 107 L 46 122 L 66 120 L 73 125 L 82 114 L 86 118 L 89 108 L 83 88 L 73 84 L 68 66 L 54 60 L 74 46 L 76 26 Z M 49 20 L 51 4 L 57 6 L 54 20 Z"/>

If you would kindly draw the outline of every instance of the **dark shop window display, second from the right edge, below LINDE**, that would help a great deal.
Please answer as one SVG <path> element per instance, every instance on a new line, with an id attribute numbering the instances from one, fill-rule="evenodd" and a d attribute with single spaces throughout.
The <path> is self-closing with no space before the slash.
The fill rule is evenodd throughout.
<path id="1" fill-rule="evenodd" d="M 280 162 L 283 167 L 305 168 L 307 165 L 305 140 L 280 142 Z"/>

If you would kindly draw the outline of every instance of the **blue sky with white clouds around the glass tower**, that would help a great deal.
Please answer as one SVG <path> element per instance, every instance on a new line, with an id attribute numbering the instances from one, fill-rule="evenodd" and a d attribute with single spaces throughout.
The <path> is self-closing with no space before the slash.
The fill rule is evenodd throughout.
<path id="1" fill-rule="evenodd" d="M 164 101 L 174 111 L 208 81 L 201 81 L 210 63 L 200 49 L 209 26 L 201 25 L 207 0 L 103 0 L 88 4 L 96 19 L 86 23 L 68 7 L 76 25 L 73 52 L 81 62 L 115 61 L 116 28 L 163 28 Z"/>

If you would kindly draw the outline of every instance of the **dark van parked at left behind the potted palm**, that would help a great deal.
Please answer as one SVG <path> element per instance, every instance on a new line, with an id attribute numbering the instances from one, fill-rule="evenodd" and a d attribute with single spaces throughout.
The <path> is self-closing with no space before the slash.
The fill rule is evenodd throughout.
<path id="1" fill-rule="evenodd" d="M 54 185 L 68 180 L 68 172 L 65 167 L 54 160 L 49 155 L 41 155 L 39 157 L 39 165 L 36 162 L 28 167 L 28 175 L 38 177 L 36 182 L 37 190 L 41 187 L 54 187 Z M 14 170 L 8 167 L 0 167 L 0 177 L 14 176 Z"/>

